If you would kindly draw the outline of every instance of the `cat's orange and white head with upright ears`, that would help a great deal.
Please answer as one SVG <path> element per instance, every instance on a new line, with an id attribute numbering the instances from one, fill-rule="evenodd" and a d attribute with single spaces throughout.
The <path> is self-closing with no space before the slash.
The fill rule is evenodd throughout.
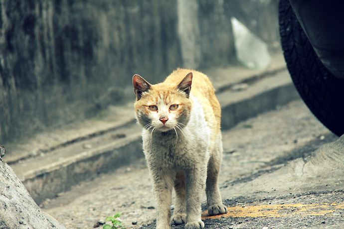
<path id="1" fill-rule="evenodd" d="M 141 76 L 135 75 L 135 111 L 139 123 L 146 129 L 163 132 L 186 126 L 191 112 L 191 83 L 192 73 L 188 73 L 177 84 L 156 85 L 151 85 Z"/>

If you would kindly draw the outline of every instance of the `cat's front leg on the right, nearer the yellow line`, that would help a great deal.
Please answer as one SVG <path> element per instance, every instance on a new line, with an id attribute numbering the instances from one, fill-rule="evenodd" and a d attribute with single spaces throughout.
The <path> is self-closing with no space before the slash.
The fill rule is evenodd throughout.
<path id="1" fill-rule="evenodd" d="M 204 228 L 201 220 L 201 198 L 205 189 L 206 166 L 188 171 L 186 175 L 186 214 L 185 229 Z"/>

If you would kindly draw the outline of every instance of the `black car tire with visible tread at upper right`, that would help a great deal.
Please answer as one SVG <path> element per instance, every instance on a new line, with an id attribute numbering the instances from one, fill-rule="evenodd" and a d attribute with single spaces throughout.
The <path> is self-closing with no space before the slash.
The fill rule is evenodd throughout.
<path id="1" fill-rule="evenodd" d="M 344 134 L 344 80 L 318 58 L 289 0 L 280 0 L 279 27 L 288 71 L 301 98 L 332 132 Z"/>

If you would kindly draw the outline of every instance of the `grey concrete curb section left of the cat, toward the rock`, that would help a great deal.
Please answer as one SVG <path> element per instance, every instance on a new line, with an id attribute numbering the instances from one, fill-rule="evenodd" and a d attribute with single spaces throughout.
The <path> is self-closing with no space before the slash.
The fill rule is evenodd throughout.
<path id="1" fill-rule="evenodd" d="M 32 199 L 40 205 L 46 198 L 55 198 L 58 193 L 69 190 L 81 181 L 93 180 L 101 173 L 113 171 L 143 156 L 142 140 L 137 134 L 114 145 L 95 149 L 49 171 L 37 171 L 22 183 Z"/>

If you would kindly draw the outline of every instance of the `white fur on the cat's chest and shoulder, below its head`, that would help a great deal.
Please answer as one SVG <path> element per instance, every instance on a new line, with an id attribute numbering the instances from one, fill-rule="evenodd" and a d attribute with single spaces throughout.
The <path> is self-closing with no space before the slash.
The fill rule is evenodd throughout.
<path id="1" fill-rule="evenodd" d="M 201 103 L 192 95 L 190 99 L 190 120 L 181 130 L 143 130 L 144 152 L 150 166 L 183 169 L 209 159 L 210 128 Z"/>

